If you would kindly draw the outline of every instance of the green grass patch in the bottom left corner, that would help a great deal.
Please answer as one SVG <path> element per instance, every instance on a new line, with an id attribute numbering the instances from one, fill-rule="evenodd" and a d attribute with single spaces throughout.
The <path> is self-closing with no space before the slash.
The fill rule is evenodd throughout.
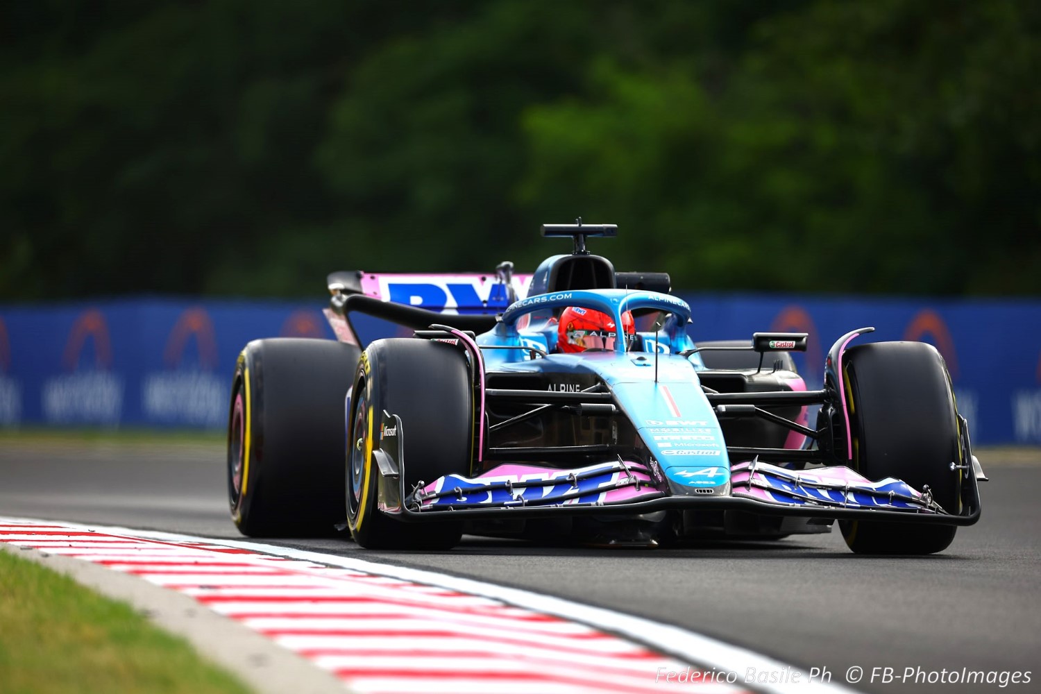
<path id="1" fill-rule="evenodd" d="M 0 692 L 250 691 L 123 602 L 0 551 Z"/>

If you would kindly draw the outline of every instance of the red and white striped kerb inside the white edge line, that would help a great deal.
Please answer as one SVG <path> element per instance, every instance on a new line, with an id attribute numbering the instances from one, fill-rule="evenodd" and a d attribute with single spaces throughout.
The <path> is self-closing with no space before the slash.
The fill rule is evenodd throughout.
<path id="1" fill-rule="evenodd" d="M 697 670 L 688 663 L 555 615 L 219 541 L 0 518 L 0 542 L 94 562 L 191 595 L 358 693 L 746 691 L 719 682 L 692 685 L 690 672 Z M 688 678 L 666 683 L 659 673 L 668 672 Z"/>

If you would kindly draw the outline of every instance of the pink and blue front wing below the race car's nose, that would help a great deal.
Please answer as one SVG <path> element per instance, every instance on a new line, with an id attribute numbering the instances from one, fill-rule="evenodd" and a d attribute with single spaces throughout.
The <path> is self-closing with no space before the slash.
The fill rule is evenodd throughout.
<path id="1" fill-rule="evenodd" d="M 974 485 L 973 478 L 968 483 Z M 848 467 L 791 470 L 752 461 L 731 468 L 729 494 L 671 493 L 656 466 L 618 458 L 575 469 L 503 464 L 476 478 L 448 474 L 402 489 L 404 520 L 637 514 L 659 510 L 742 510 L 765 515 L 904 520 L 968 525 L 979 508 L 955 515 L 928 490 L 887 478 L 872 482 Z M 977 496 L 976 496 L 977 497 Z"/>

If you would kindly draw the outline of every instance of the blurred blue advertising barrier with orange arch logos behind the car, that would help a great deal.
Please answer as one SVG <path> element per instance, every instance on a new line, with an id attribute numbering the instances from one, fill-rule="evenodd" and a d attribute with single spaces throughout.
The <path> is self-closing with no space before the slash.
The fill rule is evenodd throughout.
<path id="1" fill-rule="evenodd" d="M 1041 443 L 1041 302 L 681 295 L 695 340 L 810 333 L 795 359 L 811 388 L 832 342 L 854 328 L 877 328 L 861 341 L 930 342 L 947 361 L 974 442 Z M 323 308 L 172 299 L 0 306 L 0 427 L 222 429 L 242 346 L 332 339 Z M 358 324 L 365 339 L 392 330 Z"/>

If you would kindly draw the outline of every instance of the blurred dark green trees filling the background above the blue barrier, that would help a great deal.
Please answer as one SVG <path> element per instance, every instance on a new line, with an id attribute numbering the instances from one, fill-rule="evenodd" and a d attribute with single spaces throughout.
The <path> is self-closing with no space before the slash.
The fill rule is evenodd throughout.
<path id="1" fill-rule="evenodd" d="M 533 268 L 1041 293 L 1032 0 L 0 5 L 0 300 Z"/>

